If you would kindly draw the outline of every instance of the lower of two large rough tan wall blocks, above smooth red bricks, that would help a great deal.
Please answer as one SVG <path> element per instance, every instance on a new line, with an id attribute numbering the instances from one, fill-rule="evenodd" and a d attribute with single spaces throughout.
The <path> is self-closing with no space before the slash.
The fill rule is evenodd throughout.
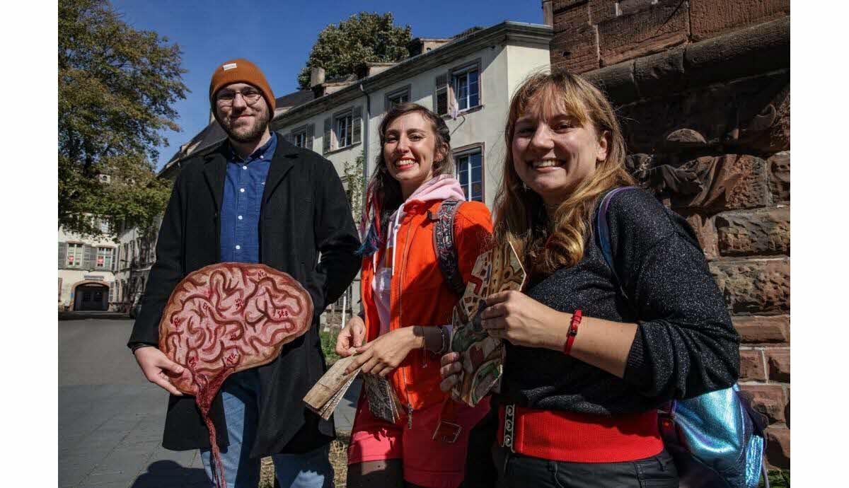
<path id="1" fill-rule="evenodd" d="M 713 261 L 713 278 L 734 313 L 790 310 L 790 260 Z"/>

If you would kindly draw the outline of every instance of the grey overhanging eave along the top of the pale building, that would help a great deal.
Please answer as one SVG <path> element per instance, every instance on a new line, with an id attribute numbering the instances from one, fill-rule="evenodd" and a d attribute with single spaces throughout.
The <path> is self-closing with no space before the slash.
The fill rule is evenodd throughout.
<path id="1" fill-rule="evenodd" d="M 387 87 L 397 81 L 402 81 L 420 72 L 430 70 L 436 66 L 443 65 L 447 58 L 458 58 L 466 54 L 479 51 L 481 48 L 498 41 L 513 42 L 544 42 L 548 45 L 554 36 L 554 29 L 550 25 L 529 24 L 526 22 L 514 22 L 505 20 L 500 24 L 492 25 L 475 31 L 462 39 L 447 42 L 438 48 L 426 53 L 421 53 L 408 59 L 404 59 L 387 70 L 380 71 L 372 76 L 354 81 L 350 86 L 340 89 L 338 92 L 314 98 L 306 104 L 292 107 L 284 114 L 275 116 L 271 123 L 273 126 L 288 126 L 313 115 L 321 114 L 328 109 L 346 104 L 362 97 L 365 93 L 371 93 L 382 87 Z"/>

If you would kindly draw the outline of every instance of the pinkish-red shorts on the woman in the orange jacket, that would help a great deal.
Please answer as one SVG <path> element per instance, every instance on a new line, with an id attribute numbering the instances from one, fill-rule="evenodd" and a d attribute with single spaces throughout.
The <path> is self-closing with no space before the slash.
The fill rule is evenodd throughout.
<path id="1" fill-rule="evenodd" d="M 457 488 L 463 482 L 469 431 L 489 412 L 489 398 L 475 407 L 459 407 L 457 423 L 463 429 L 457 442 L 433 440 L 441 404 L 413 412 L 413 429 L 375 418 L 368 399 L 360 395 L 348 446 L 348 464 L 401 459 L 404 480 L 419 486 Z"/>

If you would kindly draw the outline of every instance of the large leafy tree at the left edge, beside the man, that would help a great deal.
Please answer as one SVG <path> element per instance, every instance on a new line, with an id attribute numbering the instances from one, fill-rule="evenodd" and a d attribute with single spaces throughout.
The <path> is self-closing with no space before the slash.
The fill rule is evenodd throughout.
<path id="1" fill-rule="evenodd" d="M 96 236 L 92 217 L 145 228 L 164 210 L 170 182 L 151 161 L 168 143 L 160 130 L 180 130 L 180 54 L 107 0 L 59 2 L 59 226 Z"/>

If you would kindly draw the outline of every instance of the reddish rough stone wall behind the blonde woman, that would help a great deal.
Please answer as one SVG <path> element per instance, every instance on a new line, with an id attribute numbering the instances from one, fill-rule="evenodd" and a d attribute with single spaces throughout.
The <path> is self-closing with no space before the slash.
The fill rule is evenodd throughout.
<path id="1" fill-rule="evenodd" d="M 552 0 L 551 64 L 615 104 L 645 188 L 686 216 L 790 468 L 790 2 Z"/>

